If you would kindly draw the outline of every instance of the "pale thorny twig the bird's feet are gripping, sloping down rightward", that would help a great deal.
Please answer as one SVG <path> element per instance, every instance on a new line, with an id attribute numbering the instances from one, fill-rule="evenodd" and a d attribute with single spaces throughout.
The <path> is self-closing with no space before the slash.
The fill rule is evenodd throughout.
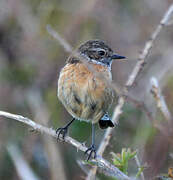
<path id="1" fill-rule="evenodd" d="M 28 126 L 31 126 L 35 131 L 39 131 L 41 133 L 45 133 L 47 135 L 50 135 L 52 137 L 57 138 L 57 134 L 55 130 L 51 128 L 47 128 L 45 126 L 42 126 L 38 123 L 35 123 L 31 119 L 27 117 L 23 117 L 21 115 L 11 114 L 5 111 L 0 111 L 0 116 L 7 117 L 19 122 L 22 122 L 24 124 L 27 124 Z M 62 137 L 60 137 L 62 140 Z M 81 144 L 80 142 L 76 141 L 75 139 L 71 138 L 70 136 L 66 136 L 64 139 L 64 142 L 71 144 L 72 146 L 76 147 L 78 150 L 81 150 L 85 152 L 87 150 L 87 147 L 84 144 Z M 107 175 L 111 177 L 116 177 L 118 179 L 122 180 L 131 180 L 127 175 L 122 173 L 117 167 L 110 164 L 107 160 L 103 159 L 101 156 L 97 156 L 96 159 L 91 160 L 95 165 L 98 166 L 98 168 L 101 168 L 104 172 L 106 172 Z"/>

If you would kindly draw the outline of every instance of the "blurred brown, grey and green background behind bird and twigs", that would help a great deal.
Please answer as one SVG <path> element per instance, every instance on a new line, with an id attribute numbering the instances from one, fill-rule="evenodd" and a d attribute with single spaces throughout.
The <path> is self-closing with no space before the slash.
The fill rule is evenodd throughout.
<path id="1" fill-rule="evenodd" d="M 53 128 L 71 120 L 56 97 L 59 71 L 69 54 L 48 34 L 48 24 L 74 48 L 89 39 L 102 39 L 128 57 L 127 62 L 115 62 L 112 66 L 113 80 L 124 85 L 139 52 L 171 3 L 172 0 L 0 0 L 0 110 Z M 152 76 L 159 80 L 173 113 L 172 48 L 170 25 L 161 32 L 148 57 L 149 63 L 130 91 L 134 99 L 146 105 L 155 122 L 163 126 L 165 119 L 155 106 L 149 82 Z M 89 145 L 91 125 L 74 122 L 69 134 Z M 103 134 L 97 129 L 97 146 Z M 104 157 L 112 162 L 110 152 L 119 153 L 123 147 L 138 149 L 141 164 L 147 163 L 144 175 L 152 179 L 173 166 L 172 136 L 166 127 L 162 132 L 158 130 L 145 112 L 128 102 Z M 84 159 L 82 152 L 30 132 L 21 123 L 0 118 L 0 179 L 24 179 L 24 166 L 21 165 L 21 172 L 17 170 L 17 154 L 24 157 L 36 179 L 85 177 L 77 163 Z M 129 175 L 135 173 L 135 166 L 132 161 Z"/>

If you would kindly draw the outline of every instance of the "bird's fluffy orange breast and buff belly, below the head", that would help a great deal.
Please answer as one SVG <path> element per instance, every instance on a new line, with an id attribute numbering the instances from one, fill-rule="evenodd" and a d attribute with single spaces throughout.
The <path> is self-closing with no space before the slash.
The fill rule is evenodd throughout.
<path id="1" fill-rule="evenodd" d="M 60 72 L 58 98 L 73 117 L 95 123 L 112 102 L 114 93 L 107 83 L 111 79 L 102 65 L 67 64 Z"/>

